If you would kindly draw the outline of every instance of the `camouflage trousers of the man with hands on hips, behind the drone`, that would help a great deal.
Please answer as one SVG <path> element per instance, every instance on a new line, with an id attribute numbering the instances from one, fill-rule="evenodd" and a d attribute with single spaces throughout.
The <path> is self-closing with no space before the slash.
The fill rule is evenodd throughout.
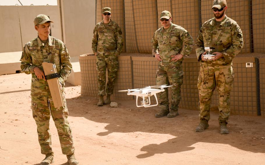
<path id="1" fill-rule="evenodd" d="M 181 100 L 181 85 L 183 84 L 182 61 L 177 62 L 175 67 L 158 65 L 156 71 L 156 85 L 169 84 L 171 87 L 171 110 L 178 110 Z M 158 93 L 158 103 L 161 110 L 169 110 L 168 89 Z"/>

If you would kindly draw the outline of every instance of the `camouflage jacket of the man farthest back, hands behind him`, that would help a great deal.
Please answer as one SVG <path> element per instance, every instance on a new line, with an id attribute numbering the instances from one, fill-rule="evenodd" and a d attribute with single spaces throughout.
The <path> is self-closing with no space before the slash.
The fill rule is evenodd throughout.
<path id="1" fill-rule="evenodd" d="M 123 47 L 122 32 L 119 25 L 110 20 L 107 27 L 103 21 L 96 24 L 93 31 L 92 50 L 93 53 L 106 53 L 119 55 Z"/>

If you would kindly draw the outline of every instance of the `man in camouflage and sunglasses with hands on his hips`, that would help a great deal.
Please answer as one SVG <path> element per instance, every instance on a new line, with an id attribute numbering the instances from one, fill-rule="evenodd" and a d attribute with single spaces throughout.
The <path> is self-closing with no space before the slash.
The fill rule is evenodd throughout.
<path id="1" fill-rule="evenodd" d="M 167 115 L 167 117 L 171 118 L 179 115 L 178 107 L 183 83 L 183 56 L 189 56 L 193 46 L 193 40 L 188 31 L 181 26 L 173 24 L 171 21 L 171 13 L 166 10 L 163 11 L 160 14 L 162 27 L 155 32 L 151 40 L 153 56 L 159 61 L 156 72 L 156 85 L 173 85 L 171 87 L 170 112 L 168 89 L 165 89 L 164 92 L 158 94 L 161 111 L 155 114 L 156 117 Z"/>

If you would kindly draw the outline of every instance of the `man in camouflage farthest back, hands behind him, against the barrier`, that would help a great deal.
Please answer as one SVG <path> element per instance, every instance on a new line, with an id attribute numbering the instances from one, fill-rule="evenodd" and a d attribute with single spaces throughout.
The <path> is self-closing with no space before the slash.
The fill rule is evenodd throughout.
<path id="1" fill-rule="evenodd" d="M 117 56 L 121 53 L 123 39 L 121 28 L 110 19 L 111 8 L 102 9 L 103 21 L 96 24 L 92 40 L 92 50 L 97 56 L 98 72 L 98 106 L 110 103 L 110 95 L 113 94 L 114 81 L 118 71 Z M 108 70 L 108 82 L 106 87 L 106 69 Z M 107 93 L 106 100 L 103 101 Z"/>

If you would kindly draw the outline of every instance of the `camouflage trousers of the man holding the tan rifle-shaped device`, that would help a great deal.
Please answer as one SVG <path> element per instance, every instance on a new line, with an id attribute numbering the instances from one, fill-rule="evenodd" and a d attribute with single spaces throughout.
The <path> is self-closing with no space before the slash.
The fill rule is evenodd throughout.
<path id="1" fill-rule="evenodd" d="M 68 123 L 68 109 L 63 87 L 63 101 L 65 107 L 55 108 L 51 96 L 31 96 L 32 114 L 37 124 L 38 140 L 42 154 L 52 153 L 52 141 L 49 129 L 50 114 L 57 128 L 62 153 L 72 154 L 75 151 L 73 137 Z"/>

